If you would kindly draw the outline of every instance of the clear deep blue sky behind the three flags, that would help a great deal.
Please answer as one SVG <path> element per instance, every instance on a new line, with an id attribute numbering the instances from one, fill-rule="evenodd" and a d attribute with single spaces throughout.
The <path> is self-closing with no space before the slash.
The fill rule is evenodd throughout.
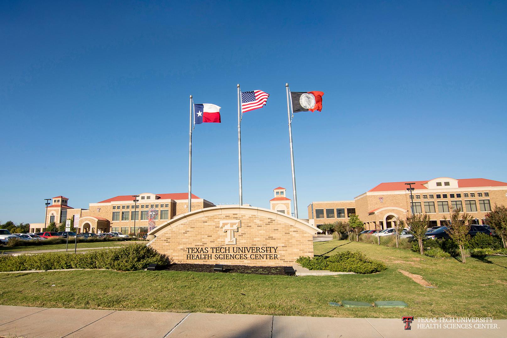
<path id="1" fill-rule="evenodd" d="M 507 181 L 506 2 L 2 2 L 0 221 L 44 198 L 88 207 L 186 192 L 188 97 L 222 107 L 193 136 L 193 193 L 292 195 L 285 83 L 323 91 L 293 122 L 299 214 L 380 182 Z"/>

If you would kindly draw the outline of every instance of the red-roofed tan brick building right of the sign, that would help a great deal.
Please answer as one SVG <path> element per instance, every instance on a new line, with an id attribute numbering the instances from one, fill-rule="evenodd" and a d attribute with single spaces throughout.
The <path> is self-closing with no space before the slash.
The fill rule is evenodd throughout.
<path id="1" fill-rule="evenodd" d="M 507 205 L 507 183 L 485 178 L 455 179 L 439 177 L 429 181 L 412 181 L 413 201 L 408 182 L 380 183 L 351 201 L 312 202 L 308 217 L 315 226 L 347 221 L 355 213 L 365 223 L 366 229 L 393 227 L 396 217 L 406 219 L 411 214 L 427 213 L 432 226 L 445 224 L 452 208 L 471 214 L 474 223 L 483 224 L 485 215 L 494 204 Z"/>

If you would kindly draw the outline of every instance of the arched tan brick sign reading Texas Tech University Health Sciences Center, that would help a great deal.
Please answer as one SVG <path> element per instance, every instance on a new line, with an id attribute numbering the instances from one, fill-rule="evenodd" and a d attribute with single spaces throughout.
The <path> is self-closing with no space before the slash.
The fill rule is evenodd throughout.
<path id="1" fill-rule="evenodd" d="M 274 210 L 225 205 L 170 219 L 148 233 L 148 245 L 176 263 L 291 266 L 313 257 L 319 232 Z"/>

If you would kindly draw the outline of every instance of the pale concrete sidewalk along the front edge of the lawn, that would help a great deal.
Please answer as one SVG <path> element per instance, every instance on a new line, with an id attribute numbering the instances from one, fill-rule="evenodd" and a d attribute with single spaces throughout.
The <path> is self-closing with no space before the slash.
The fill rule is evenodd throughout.
<path id="1" fill-rule="evenodd" d="M 410 315 L 410 310 L 407 310 Z M 80 310 L 0 306 L 2 337 L 507 337 L 497 328 L 417 328 L 402 319 Z M 474 324 L 472 324 L 473 326 Z"/>

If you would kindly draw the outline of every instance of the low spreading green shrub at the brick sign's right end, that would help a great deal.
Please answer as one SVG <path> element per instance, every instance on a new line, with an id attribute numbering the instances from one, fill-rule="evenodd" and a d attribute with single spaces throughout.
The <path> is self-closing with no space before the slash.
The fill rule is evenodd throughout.
<path id="1" fill-rule="evenodd" d="M 367 258 L 360 252 L 343 251 L 328 258 L 322 256 L 299 257 L 296 262 L 309 270 L 329 270 L 333 272 L 355 272 L 371 274 L 387 269 L 385 264 Z"/>

